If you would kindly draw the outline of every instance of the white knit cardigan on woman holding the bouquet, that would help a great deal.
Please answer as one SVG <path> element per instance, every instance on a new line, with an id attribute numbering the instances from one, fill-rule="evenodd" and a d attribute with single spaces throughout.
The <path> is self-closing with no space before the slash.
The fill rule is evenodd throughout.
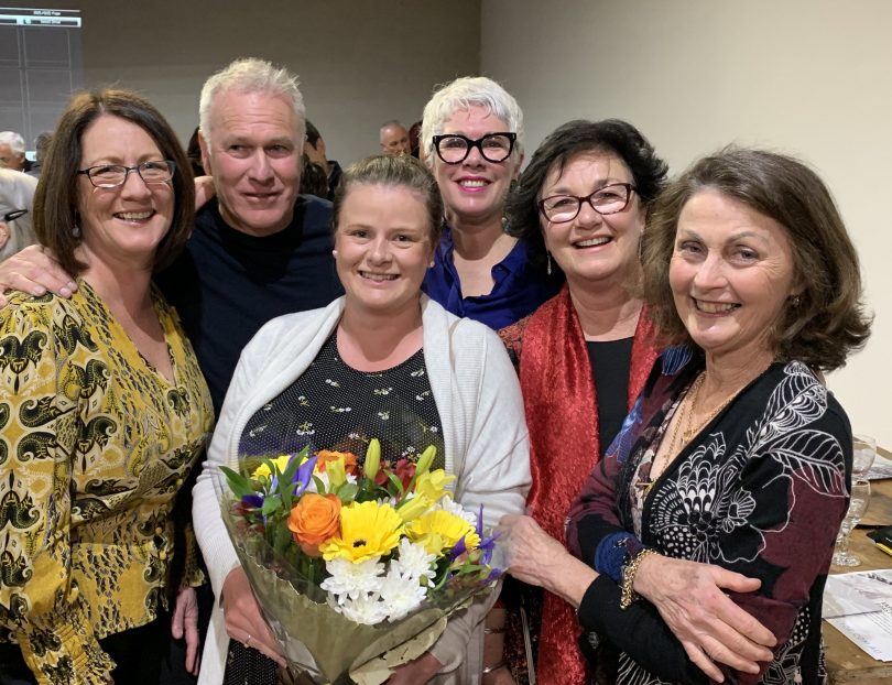
<path id="1" fill-rule="evenodd" d="M 457 477 L 456 500 L 494 525 L 507 513 L 523 513 L 530 489 L 529 438 L 520 384 L 499 337 L 488 327 L 457 318 L 422 295 L 424 362 L 443 426 L 446 471 Z M 344 298 L 323 309 L 268 323 L 241 354 L 224 402 L 208 458 L 194 490 L 193 519 L 217 598 L 238 557 L 220 518 L 219 465 L 238 464 L 244 425 L 297 379 L 335 330 Z M 482 620 L 494 597 L 449 620 L 432 653 L 443 664 L 438 684 L 479 683 Z M 215 605 L 202 659 L 200 685 L 219 685 L 229 637 Z"/>

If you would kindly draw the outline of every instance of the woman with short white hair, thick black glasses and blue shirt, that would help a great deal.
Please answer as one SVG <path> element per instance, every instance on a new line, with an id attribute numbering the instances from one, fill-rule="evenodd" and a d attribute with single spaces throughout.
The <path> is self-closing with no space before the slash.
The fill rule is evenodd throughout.
<path id="1" fill-rule="evenodd" d="M 445 208 L 425 292 L 496 329 L 532 313 L 562 279 L 531 264 L 526 242 L 507 230 L 504 203 L 523 161 L 516 100 L 489 78 L 458 78 L 424 108 L 421 141 Z"/>

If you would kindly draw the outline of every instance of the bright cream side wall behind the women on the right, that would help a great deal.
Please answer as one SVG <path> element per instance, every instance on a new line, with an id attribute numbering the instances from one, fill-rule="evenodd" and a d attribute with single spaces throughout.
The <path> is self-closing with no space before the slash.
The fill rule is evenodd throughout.
<path id="1" fill-rule="evenodd" d="M 729 142 L 817 167 L 875 312 L 829 387 L 892 448 L 892 3 L 483 0 L 481 17 L 482 72 L 520 101 L 531 151 L 568 119 L 621 117 L 674 172 Z"/>

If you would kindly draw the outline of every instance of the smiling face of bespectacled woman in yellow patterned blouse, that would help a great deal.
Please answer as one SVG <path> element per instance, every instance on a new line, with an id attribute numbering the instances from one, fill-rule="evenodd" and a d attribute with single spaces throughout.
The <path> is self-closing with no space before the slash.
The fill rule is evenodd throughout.
<path id="1" fill-rule="evenodd" d="M 130 121 L 102 115 L 80 139 L 80 168 L 101 164 L 135 166 L 164 157 L 149 133 Z M 146 184 L 137 172 L 117 188 L 97 188 L 79 175 L 77 210 L 81 249 L 88 263 L 126 263 L 150 269 L 157 244 L 171 227 L 174 191 L 171 182 Z"/>

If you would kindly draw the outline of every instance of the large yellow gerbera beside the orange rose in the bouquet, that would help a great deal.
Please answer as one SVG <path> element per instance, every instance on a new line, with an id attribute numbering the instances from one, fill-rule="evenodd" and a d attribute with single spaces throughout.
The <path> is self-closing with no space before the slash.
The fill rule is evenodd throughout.
<path id="1" fill-rule="evenodd" d="M 326 562 L 340 557 L 359 564 L 389 554 L 400 544 L 403 520 L 390 504 L 352 502 L 340 510 L 340 536 L 319 545 Z"/>

